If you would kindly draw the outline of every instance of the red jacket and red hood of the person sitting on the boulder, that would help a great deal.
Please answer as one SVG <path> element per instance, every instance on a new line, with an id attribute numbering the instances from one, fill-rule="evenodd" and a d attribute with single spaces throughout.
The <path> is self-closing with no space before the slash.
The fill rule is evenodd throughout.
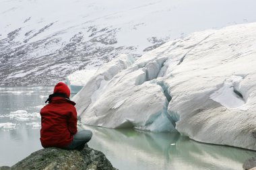
<path id="1" fill-rule="evenodd" d="M 69 98 L 70 91 L 64 83 L 55 86 L 53 95 L 61 93 Z M 71 143 L 77 133 L 77 113 L 75 102 L 65 97 L 52 97 L 49 104 L 40 111 L 41 130 L 40 141 L 44 148 L 63 147 Z"/>

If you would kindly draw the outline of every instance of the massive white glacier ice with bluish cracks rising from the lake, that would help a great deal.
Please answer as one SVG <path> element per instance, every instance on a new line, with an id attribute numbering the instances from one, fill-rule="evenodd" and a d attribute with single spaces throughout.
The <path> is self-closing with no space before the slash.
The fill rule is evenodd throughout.
<path id="1" fill-rule="evenodd" d="M 84 124 L 256 150 L 256 24 L 195 32 L 106 63 L 73 97 Z"/>

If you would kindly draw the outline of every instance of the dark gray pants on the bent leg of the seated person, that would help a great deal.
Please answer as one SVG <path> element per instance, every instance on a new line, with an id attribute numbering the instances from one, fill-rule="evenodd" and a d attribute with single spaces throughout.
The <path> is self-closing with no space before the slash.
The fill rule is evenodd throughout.
<path id="1" fill-rule="evenodd" d="M 71 143 L 64 147 L 67 150 L 82 150 L 84 145 L 92 138 L 90 130 L 81 130 L 73 136 Z"/>

